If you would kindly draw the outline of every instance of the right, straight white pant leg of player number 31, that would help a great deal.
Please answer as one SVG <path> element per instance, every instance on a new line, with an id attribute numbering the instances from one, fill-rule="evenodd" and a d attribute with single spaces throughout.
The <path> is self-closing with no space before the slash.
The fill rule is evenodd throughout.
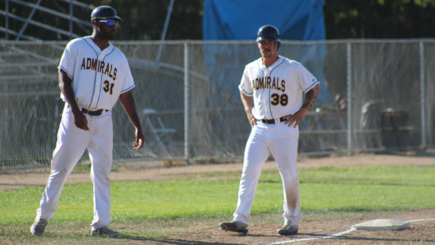
<path id="1" fill-rule="evenodd" d="M 110 171 L 112 169 L 113 125 L 112 112 L 92 117 L 91 141 L 87 147 L 92 162 L 94 183 L 94 220 L 92 229 L 108 226 L 110 222 Z"/>

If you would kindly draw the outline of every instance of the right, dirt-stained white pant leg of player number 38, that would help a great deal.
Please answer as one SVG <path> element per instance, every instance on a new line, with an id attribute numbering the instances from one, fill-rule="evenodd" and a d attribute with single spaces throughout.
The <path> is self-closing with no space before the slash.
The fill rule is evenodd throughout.
<path id="1" fill-rule="evenodd" d="M 275 138 L 269 143 L 269 149 L 277 162 L 284 187 L 284 224 L 298 224 L 301 218 L 299 206 L 299 178 L 297 173 L 297 140 L 299 129 L 281 123 L 274 128 Z"/>

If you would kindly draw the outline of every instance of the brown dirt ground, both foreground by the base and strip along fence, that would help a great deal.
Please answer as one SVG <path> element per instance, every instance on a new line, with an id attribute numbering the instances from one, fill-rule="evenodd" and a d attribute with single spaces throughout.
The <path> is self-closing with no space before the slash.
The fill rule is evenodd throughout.
<path id="1" fill-rule="evenodd" d="M 170 165 L 171 162 L 166 162 Z M 370 165 L 401 165 L 401 166 L 424 166 L 435 164 L 435 151 L 407 152 L 396 154 L 359 153 L 352 156 L 323 156 L 319 158 L 299 157 L 299 169 L 317 169 L 319 167 L 355 167 Z M 163 165 L 163 163 L 162 163 Z M 216 173 L 224 171 L 241 171 L 242 163 L 225 164 L 191 164 L 172 167 L 140 167 L 134 165 L 121 165 L 111 173 L 112 181 L 118 180 L 169 180 L 179 178 L 202 178 L 202 173 Z M 266 162 L 264 170 L 277 169 L 275 162 Z M 34 171 L 32 173 L 4 173 L 0 174 L 0 190 L 8 190 L 22 187 L 45 186 L 49 169 Z M 91 182 L 89 171 L 73 171 L 66 184 Z M 434 189 L 435 191 L 435 189 Z M 410 222 L 410 228 L 401 231 L 367 231 L 357 230 L 322 239 L 348 230 L 352 225 L 388 218 L 393 220 L 409 221 L 421 219 L 434 219 L 435 209 L 415 211 L 409 213 L 394 213 L 390 215 L 374 215 L 363 217 L 348 217 L 301 221 L 299 233 L 295 236 L 285 237 L 277 235 L 280 224 L 252 224 L 247 235 L 226 233 L 221 231 L 217 222 L 204 222 L 191 226 L 187 231 L 179 235 L 173 235 L 166 239 L 141 239 L 140 237 L 119 237 L 113 239 L 111 244 L 270 244 L 288 240 L 295 244 L 435 244 L 435 220 Z M 223 221 L 223 220 L 222 220 Z M 122 231 L 121 231 L 122 234 Z M 299 239 L 310 239 L 299 241 Z M 50 240 L 50 239 L 49 239 Z M 46 240 L 46 242 L 49 242 Z M 54 242 L 54 241 L 51 241 Z M 83 241 L 82 241 L 83 242 Z M 90 241 L 89 241 L 90 242 Z M 94 241 L 95 242 L 95 241 Z M 100 244 L 98 242 L 89 244 Z M 101 244 L 107 242 L 100 241 Z M 24 242 L 26 244 L 26 242 Z M 85 242 L 87 244 L 87 242 Z"/>

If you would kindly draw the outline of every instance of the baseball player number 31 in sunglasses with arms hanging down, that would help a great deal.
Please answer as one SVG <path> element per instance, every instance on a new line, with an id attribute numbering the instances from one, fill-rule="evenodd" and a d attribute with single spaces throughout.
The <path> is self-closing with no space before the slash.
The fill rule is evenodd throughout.
<path id="1" fill-rule="evenodd" d="M 134 149 L 144 142 L 136 105 L 131 95 L 135 87 L 127 58 L 109 40 L 114 39 L 120 21 L 116 11 L 100 6 L 91 14 L 92 36 L 70 41 L 59 65 L 61 98 L 66 102 L 52 158 L 52 171 L 36 210 L 30 231 L 43 235 L 54 216 L 63 184 L 85 149 L 92 162 L 94 221 L 91 235 L 119 235 L 107 228 L 110 220 L 110 179 L 112 168 L 112 107 L 118 98 L 136 128 Z"/>

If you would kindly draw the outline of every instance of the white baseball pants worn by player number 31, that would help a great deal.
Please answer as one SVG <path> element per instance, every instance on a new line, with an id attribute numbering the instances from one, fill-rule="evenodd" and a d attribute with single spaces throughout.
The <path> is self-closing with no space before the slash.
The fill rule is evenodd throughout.
<path id="1" fill-rule="evenodd" d="M 91 179 L 94 183 L 94 221 L 91 224 L 94 230 L 107 226 L 110 222 L 112 111 L 104 111 L 100 116 L 87 114 L 85 116 L 89 123 L 89 131 L 74 125 L 72 111 L 65 103 L 56 149 L 53 152 L 52 171 L 41 198 L 41 207 L 36 211 L 36 215 L 47 221 L 54 217 L 63 184 L 87 148 L 92 163 Z"/>

